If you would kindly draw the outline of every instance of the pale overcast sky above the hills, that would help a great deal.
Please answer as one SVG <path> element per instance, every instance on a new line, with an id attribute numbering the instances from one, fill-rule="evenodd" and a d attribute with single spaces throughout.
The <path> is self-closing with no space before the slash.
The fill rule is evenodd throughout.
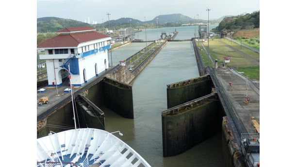
<path id="1" fill-rule="evenodd" d="M 121 17 L 132 17 L 144 21 L 158 15 L 182 14 L 207 20 L 226 15 L 240 15 L 260 10 L 259 0 L 37 0 L 37 18 L 60 17 L 98 23 Z"/>

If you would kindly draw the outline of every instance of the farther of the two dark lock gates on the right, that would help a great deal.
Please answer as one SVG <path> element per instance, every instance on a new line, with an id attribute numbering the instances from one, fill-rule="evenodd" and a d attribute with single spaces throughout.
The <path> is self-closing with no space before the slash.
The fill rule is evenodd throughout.
<path id="1" fill-rule="evenodd" d="M 212 92 L 213 83 L 209 76 L 167 85 L 167 109 Z"/>

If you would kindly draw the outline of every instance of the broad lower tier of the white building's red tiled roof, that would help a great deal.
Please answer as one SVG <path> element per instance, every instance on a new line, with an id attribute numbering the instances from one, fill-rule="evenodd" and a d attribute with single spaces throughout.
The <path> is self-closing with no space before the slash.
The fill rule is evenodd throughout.
<path id="1" fill-rule="evenodd" d="M 37 48 L 77 47 L 82 42 L 109 37 L 103 33 L 85 32 L 60 34 L 37 45 Z"/>

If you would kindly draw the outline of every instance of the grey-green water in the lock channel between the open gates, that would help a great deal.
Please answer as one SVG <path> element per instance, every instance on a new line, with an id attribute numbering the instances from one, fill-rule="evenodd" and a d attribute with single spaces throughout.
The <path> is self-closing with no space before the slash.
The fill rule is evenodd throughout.
<path id="1" fill-rule="evenodd" d="M 101 107 L 106 130 L 123 133 L 117 137 L 152 167 L 221 167 L 221 132 L 180 155 L 163 157 L 161 113 L 167 106 L 166 84 L 198 76 L 191 41 L 169 42 L 131 83 L 134 119 Z"/>

